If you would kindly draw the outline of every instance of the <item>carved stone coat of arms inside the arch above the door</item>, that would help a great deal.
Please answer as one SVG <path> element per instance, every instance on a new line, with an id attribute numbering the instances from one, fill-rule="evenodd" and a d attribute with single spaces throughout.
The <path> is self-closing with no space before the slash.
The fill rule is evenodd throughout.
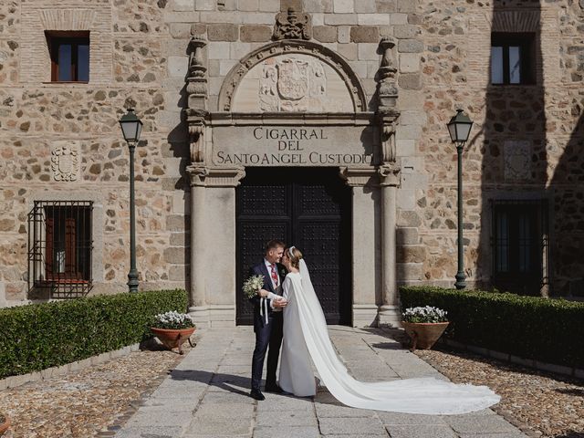
<path id="1" fill-rule="evenodd" d="M 259 90 L 260 109 L 320 110 L 326 92 L 327 78 L 318 59 L 284 57 L 264 65 Z"/>

